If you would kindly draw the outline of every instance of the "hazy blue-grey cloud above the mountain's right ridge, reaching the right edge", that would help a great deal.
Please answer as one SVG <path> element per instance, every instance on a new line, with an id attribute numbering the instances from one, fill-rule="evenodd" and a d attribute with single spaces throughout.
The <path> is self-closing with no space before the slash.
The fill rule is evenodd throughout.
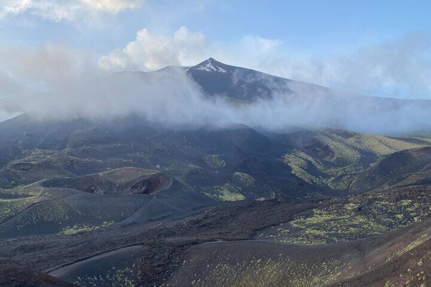
<path id="1" fill-rule="evenodd" d="M 255 67 L 283 77 L 358 94 L 431 98 L 431 36 L 404 35 L 344 55 L 276 55 Z"/>

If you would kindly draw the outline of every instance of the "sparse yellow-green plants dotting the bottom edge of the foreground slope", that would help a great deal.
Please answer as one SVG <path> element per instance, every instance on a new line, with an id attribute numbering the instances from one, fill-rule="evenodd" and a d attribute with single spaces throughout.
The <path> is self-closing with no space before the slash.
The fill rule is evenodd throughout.
<path id="1" fill-rule="evenodd" d="M 183 265 L 188 264 L 184 261 Z M 322 286 L 350 267 L 336 260 L 301 263 L 280 254 L 278 258 L 251 258 L 238 263 L 221 258 L 216 263 L 207 265 L 205 277 L 202 274 L 191 274 L 193 287 L 209 286 Z M 202 277 L 201 277 L 202 276 Z"/>

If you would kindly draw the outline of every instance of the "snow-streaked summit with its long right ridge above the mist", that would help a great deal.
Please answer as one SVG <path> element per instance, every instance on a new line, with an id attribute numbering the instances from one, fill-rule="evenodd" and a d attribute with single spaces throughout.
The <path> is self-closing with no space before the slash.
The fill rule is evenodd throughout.
<path id="1" fill-rule="evenodd" d="M 358 95 L 313 83 L 273 76 L 253 69 L 227 65 L 214 58 L 208 58 L 193 67 L 169 66 L 156 72 L 175 70 L 186 71 L 208 95 L 223 95 L 246 102 L 272 99 L 276 94 L 292 95 L 297 93 L 300 97 L 318 98 L 324 96 L 340 98 L 344 101 L 375 101 L 376 108 L 380 105 L 387 108 L 399 108 L 399 105 L 403 104 L 428 105 L 427 103 L 429 103 L 426 100 L 401 100 Z M 154 72 L 149 72 L 149 74 L 151 73 Z"/>

